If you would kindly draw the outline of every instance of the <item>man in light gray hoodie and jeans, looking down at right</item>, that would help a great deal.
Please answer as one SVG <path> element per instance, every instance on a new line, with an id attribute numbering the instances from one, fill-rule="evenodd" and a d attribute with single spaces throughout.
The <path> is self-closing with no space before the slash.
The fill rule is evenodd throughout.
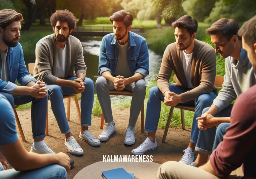
<path id="1" fill-rule="evenodd" d="M 216 127 L 221 123 L 225 128 L 230 125 L 232 102 L 256 83 L 253 67 L 237 35 L 238 30 L 239 25 L 235 20 L 227 18 L 219 19 L 206 30 L 215 44 L 215 51 L 225 58 L 226 74 L 222 90 L 211 107 L 205 108 L 198 118 L 200 132 L 196 144 L 197 159 L 192 163 L 194 166 L 207 162 L 208 155 L 212 153 Z"/>

